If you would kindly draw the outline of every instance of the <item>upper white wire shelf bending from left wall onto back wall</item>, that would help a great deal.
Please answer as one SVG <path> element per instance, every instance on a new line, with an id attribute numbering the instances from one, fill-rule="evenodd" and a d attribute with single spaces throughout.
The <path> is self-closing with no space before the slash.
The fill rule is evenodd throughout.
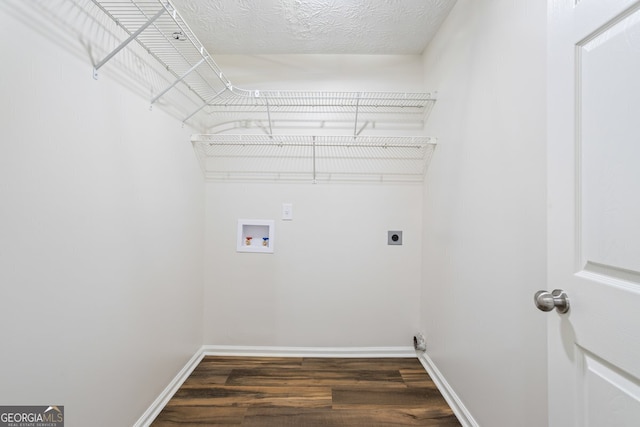
<path id="1" fill-rule="evenodd" d="M 153 56 L 175 77 L 173 85 L 185 85 L 201 104 L 185 112 L 183 121 L 206 115 L 208 127 L 220 123 L 220 116 L 238 120 L 267 120 L 272 131 L 271 115 L 300 113 L 323 115 L 341 113 L 355 116 L 354 129 L 371 114 L 416 115 L 423 123 L 430 113 L 435 96 L 431 93 L 396 92 L 319 92 L 245 90 L 235 87 L 170 1 L 98 1 L 92 0 L 124 32 Z M 102 66 L 102 63 L 98 63 Z M 173 86 L 158 89 L 155 103 Z M 323 120 L 321 117 L 318 120 Z"/>

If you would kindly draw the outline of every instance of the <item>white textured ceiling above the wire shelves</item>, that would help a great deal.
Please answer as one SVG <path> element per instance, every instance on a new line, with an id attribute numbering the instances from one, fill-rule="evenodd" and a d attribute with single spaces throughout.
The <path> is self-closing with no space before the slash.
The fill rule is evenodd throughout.
<path id="1" fill-rule="evenodd" d="M 456 0 L 173 0 L 212 54 L 421 54 Z"/>

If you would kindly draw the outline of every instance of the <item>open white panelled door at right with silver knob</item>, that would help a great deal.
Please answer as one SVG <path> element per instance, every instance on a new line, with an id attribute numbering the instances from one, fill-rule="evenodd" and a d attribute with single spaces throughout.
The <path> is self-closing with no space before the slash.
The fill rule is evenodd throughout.
<path id="1" fill-rule="evenodd" d="M 640 0 L 548 4 L 549 424 L 638 427 Z"/>

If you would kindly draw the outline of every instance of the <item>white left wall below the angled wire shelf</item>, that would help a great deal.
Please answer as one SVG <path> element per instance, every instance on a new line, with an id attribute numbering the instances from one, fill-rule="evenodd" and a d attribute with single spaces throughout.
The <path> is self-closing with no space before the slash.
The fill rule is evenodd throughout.
<path id="1" fill-rule="evenodd" d="M 202 343 L 191 130 L 0 23 L 0 402 L 132 425 Z"/>

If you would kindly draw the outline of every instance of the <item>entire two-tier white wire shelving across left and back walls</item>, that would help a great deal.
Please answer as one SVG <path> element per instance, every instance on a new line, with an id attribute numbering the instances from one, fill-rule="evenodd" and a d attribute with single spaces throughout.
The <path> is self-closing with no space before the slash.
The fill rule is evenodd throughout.
<path id="1" fill-rule="evenodd" d="M 103 71 L 115 76 L 147 96 L 152 107 L 201 132 L 192 143 L 210 180 L 424 179 L 435 139 L 364 134 L 422 133 L 435 93 L 236 87 L 169 0 L 11 5 L 18 16 L 35 10 L 34 28 L 56 27 L 65 36 L 58 43 L 88 54 L 94 78 Z M 281 130 L 317 136 L 279 135 Z M 238 131 L 245 134 L 228 135 Z"/>

